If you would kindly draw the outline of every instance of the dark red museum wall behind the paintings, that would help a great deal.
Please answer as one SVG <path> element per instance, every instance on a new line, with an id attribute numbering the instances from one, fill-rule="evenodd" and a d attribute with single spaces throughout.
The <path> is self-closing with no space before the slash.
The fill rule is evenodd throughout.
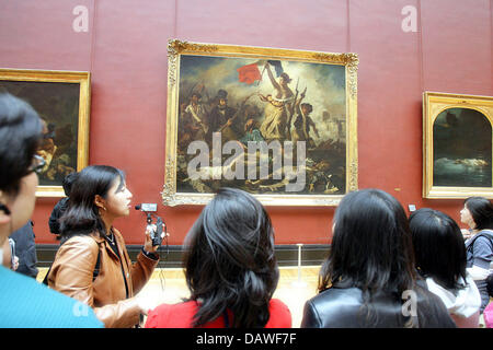
<path id="1" fill-rule="evenodd" d="M 77 33 L 77 5 L 89 31 Z M 416 31 L 402 23 L 416 9 Z M 359 188 L 377 187 L 406 208 L 459 219 L 462 200 L 422 198 L 422 93 L 493 95 L 493 0 L 2 0 L 0 67 L 90 71 L 90 164 L 125 170 L 135 202 L 158 202 L 171 245 L 200 207 L 167 208 L 167 43 L 190 42 L 356 52 Z M 48 217 L 58 198 L 38 198 L 36 243 L 55 244 Z M 328 244 L 334 208 L 267 207 L 277 244 Z M 144 214 L 115 225 L 140 244 Z"/>

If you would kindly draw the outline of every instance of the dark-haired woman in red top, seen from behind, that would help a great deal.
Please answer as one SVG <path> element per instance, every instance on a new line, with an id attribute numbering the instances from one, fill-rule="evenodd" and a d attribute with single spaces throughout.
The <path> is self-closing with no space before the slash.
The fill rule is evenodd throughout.
<path id="1" fill-rule="evenodd" d="M 220 189 L 185 238 L 183 265 L 191 296 L 162 304 L 148 315 L 148 328 L 288 328 L 287 306 L 272 299 L 279 272 L 274 231 L 251 195 Z"/>

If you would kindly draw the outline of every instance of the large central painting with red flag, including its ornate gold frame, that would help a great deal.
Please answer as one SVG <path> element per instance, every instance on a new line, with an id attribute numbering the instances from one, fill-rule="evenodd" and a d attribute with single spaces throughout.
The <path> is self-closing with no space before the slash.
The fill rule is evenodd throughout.
<path id="1" fill-rule="evenodd" d="M 179 39 L 168 52 L 165 206 L 220 187 L 336 206 L 357 189 L 356 54 Z"/>

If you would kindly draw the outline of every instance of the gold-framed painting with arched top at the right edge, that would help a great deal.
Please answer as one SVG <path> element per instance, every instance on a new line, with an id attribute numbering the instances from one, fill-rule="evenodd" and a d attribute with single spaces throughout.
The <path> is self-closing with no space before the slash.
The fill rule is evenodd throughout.
<path id="1" fill-rule="evenodd" d="M 493 97 L 423 94 L 423 197 L 493 198 Z"/>

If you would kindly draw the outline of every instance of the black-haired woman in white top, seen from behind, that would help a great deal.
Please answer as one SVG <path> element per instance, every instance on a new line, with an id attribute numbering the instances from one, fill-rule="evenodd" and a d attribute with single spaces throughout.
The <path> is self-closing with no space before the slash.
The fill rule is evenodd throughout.
<path id="1" fill-rule="evenodd" d="M 410 217 L 415 265 L 431 292 L 438 295 L 458 327 L 479 325 L 481 295 L 466 271 L 466 247 L 457 223 L 429 208 Z"/>

